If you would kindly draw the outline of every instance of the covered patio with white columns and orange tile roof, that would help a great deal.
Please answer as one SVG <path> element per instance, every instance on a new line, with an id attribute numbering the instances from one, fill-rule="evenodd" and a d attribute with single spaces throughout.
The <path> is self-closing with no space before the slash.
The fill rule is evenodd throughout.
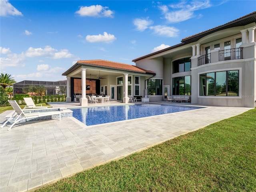
<path id="1" fill-rule="evenodd" d="M 129 102 L 128 96 L 145 96 L 145 81 L 155 72 L 134 65 L 106 60 L 81 60 L 62 75 L 67 77 L 66 102 L 80 95 L 80 106 L 88 106 L 86 95 L 109 95 L 110 101 Z"/>

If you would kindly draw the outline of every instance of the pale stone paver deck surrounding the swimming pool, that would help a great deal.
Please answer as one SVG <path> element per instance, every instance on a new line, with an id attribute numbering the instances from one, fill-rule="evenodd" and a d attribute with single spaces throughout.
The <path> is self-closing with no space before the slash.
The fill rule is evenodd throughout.
<path id="1" fill-rule="evenodd" d="M 50 104 L 54 107 L 80 107 L 79 103 L 74 102 Z M 104 105 L 120 104 L 110 102 Z M 8 125 L 0 128 L 0 191 L 34 190 L 250 109 L 206 106 L 94 126 L 86 126 L 73 117 L 60 121 L 26 122 L 22 126 L 14 126 L 10 131 L 7 130 Z M 9 113 L 0 114 L 0 124 Z"/>

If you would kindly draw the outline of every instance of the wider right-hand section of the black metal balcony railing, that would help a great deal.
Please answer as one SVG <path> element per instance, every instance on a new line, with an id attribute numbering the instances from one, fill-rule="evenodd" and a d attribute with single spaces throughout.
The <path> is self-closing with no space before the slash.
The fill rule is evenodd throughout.
<path id="1" fill-rule="evenodd" d="M 242 59 L 243 48 L 233 48 L 219 51 L 219 61 Z"/>

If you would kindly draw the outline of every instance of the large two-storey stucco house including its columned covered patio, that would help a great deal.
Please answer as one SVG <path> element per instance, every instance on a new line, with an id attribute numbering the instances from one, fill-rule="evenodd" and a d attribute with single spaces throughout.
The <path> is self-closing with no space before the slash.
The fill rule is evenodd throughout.
<path id="1" fill-rule="evenodd" d="M 74 79 L 82 99 L 95 80 L 96 93 L 127 103 L 128 96 L 190 95 L 192 104 L 254 107 L 256 101 L 256 12 L 183 38 L 180 44 L 136 58 L 136 66 L 103 60 L 78 61 L 67 76 L 67 101 Z M 103 77 L 103 78 L 102 78 Z"/>

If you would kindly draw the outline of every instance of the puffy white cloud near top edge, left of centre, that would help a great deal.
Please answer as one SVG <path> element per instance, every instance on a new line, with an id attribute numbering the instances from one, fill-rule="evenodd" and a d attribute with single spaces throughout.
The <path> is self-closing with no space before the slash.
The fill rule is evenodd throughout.
<path id="1" fill-rule="evenodd" d="M 82 6 L 80 10 L 76 11 L 80 16 L 88 17 L 111 17 L 113 18 L 114 12 L 109 10 L 108 7 L 103 7 L 101 5 L 92 5 L 92 6 Z"/>

